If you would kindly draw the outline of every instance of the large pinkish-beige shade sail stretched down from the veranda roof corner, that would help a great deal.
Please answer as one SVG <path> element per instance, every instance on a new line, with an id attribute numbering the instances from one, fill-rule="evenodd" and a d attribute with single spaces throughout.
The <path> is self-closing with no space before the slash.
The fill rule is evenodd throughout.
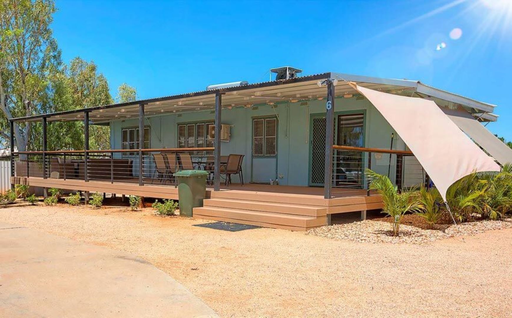
<path id="1" fill-rule="evenodd" d="M 444 200 L 447 189 L 460 178 L 474 172 L 500 171 L 493 158 L 468 138 L 434 101 L 356 88 L 407 144 Z"/>

